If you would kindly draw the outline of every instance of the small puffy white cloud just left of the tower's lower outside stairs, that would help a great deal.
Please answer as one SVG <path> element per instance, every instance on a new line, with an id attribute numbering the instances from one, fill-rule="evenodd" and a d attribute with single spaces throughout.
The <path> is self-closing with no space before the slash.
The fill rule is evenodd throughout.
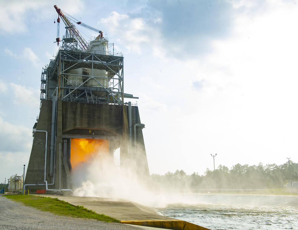
<path id="1" fill-rule="evenodd" d="M 39 90 L 34 90 L 29 87 L 26 88 L 15 83 L 10 83 L 10 87 L 14 94 L 13 102 L 18 105 L 36 107 L 39 105 Z"/>

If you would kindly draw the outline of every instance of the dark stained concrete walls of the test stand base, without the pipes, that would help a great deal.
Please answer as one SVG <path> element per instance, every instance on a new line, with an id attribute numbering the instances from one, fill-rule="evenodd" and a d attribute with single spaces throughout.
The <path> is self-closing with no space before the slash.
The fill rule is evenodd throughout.
<path id="1" fill-rule="evenodd" d="M 43 100 L 37 123 L 37 130 L 48 131 L 48 183 L 53 182 L 52 177 L 48 176 L 50 171 L 51 110 L 52 102 L 50 100 Z M 62 178 L 61 188 L 69 188 L 69 185 L 66 184 L 66 171 L 62 162 L 62 135 L 65 133 L 87 135 L 89 130 L 95 130 L 92 132 L 97 132 L 97 135 L 120 136 L 121 167 L 133 167 L 137 169 L 138 175 L 149 176 L 146 150 L 140 127 L 137 127 L 136 130 L 137 151 L 130 151 L 127 112 L 126 105 L 88 104 L 58 100 L 56 123 L 57 133 L 55 143 L 55 184 L 53 186 L 48 186 L 48 188 L 59 189 L 60 162 Z M 140 123 L 138 107 L 132 107 L 132 126 L 135 123 Z M 134 134 L 132 133 L 132 135 Z M 36 133 L 27 168 L 25 184 L 44 182 L 44 148 L 45 133 Z M 61 158 L 59 158 L 59 152 L 61 153 Z M 37 187 L 34 188 L 36 189 Z"/>

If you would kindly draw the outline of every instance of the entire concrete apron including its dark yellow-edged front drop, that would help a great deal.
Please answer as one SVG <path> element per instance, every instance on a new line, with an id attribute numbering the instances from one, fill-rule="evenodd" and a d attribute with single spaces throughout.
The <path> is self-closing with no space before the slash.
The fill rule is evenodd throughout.
<path id="1" fill-rule="evenodd" d="M 97 213 L 111 216 L 120 220 L 123 224 L 141 225 L 156 228 L 175 230 L 210 230 L 183 220 L 160 215 L 155 209 L 130 202 L 124 199 L 100 198 L 100 197 L 77 197 L 38 194 L 64 200 L 73 205 L 82 205 Z"/>

